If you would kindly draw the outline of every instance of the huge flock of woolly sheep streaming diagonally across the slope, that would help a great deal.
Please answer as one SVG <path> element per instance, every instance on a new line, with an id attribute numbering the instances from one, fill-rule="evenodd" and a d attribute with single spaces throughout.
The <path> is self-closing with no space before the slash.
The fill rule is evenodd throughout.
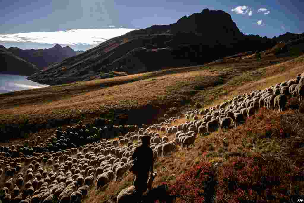
<path id="1" fill-rule="evenodd" d="M 209 109 L 189 111 L 185 118 L 192 118 L 192 121 L 178 125 L 174 123 L 181 116 L 169 118 L 165 114 L 164 122 L 147 128 L 113 126 L 114 131 L 131 130 L 127 133 L 116 131 L 120 135 L 118 140 L 105 139 L 109 132 L 107 126 L 98 130 L 80 122 L 73 128 L 57 128 L 44 144 L 40 143 L 38 136 L 31 142 L 26 140 L 23 145 L 2 146 L 2 200 L 4 203 L 81 202 L 88 195 L 90 186 L 95 185 L 97 190 L 105 188 L 110 181 L 120 180 L 129 172 L 132 153 L 143 135 L 151 136 L 150 147 L 155 159 L 164 157 L 176 151 L 178 145 L 182 149 L 193 145 L 197 134 L 209 133 L 216 128 L 226 130 L 231 125 L 244 123 L 245 118 L 253 115 L 259 107 L 274 107 L 282 111 L 289 96 L 303 99 L 304 73 L 262 91 L 236 96 Z M 171 139 L 171 135 L 175 136 Z"/>

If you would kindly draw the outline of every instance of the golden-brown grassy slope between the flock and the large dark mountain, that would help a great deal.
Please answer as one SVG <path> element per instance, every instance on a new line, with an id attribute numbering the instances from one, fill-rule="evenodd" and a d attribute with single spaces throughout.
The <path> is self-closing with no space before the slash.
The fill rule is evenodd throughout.
<path id="1" fill-rule="evenodd" d="M 154 113 L 144 121 L 153 122 L 159 116 L 156 110 L 190 100 L 210 104 L 216 96 L 226 94 L 227 83 L 234 88 L 240 82 L 260 79 L 266 75 L 255 73 L 257 68 L 287 59 L 248 59 L 6 93 L 0 96 L 0 123 L 20 124 L 26 118 L 30 124 L 58 118 L 92 122 L 95 117 L 113 117 L 126 109 L 131 123 L 138 121 L 138 110 Z M 148 110 L 147 104 L 153 110 Z"/>

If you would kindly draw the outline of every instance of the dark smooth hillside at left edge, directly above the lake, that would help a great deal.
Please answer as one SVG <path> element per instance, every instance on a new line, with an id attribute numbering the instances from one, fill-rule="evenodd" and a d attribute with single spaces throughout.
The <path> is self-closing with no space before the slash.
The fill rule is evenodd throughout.
<path id="1" fill-rule="evenodd" d="M 0 73 L 29 76 L 39 69 L 0 45 Z"/>

